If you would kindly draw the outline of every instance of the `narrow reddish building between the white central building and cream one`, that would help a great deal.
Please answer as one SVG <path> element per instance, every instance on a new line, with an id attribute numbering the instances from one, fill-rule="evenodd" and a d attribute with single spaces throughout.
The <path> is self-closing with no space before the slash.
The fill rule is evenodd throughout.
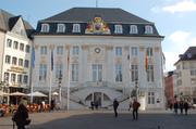
<path id="1" fill-rule="evenodd" d="M 174 73 L 168 72 L 164 77 L 164 95 L 167 106 L 173 104 L 174 102 Z"/>

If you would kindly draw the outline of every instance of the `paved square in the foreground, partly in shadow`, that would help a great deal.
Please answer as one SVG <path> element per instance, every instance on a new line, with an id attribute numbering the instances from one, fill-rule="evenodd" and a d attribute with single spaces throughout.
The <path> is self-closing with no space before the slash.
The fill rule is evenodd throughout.
<path id="1" fill-rule="evenodd" d="M 196 129 L 196 111 L 187 116 L 172 112 L 140 112 L 133 120 L 127 111 L 70 111 L 30 114 L 27 129 Z M 12 129 L 11 117 L 0 117 L 0 129 Z M 16 128 L 15 128 L 16 129 Z"/>

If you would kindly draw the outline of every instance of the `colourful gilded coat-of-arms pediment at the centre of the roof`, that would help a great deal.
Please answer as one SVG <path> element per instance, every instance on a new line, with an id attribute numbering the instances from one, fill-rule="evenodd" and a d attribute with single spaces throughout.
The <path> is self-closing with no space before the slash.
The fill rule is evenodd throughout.
<path id="1" fill-rule="evenodd" d="M 90 23 L 87 24 L 85 34 L 111 34 L 108 25 L 102 21 L 101 17 L 95 17 Z"/>

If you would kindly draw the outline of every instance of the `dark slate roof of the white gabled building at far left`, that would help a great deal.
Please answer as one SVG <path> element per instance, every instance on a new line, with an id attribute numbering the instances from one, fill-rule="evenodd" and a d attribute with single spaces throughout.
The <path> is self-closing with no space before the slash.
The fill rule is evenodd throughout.
<path id="1" fill-rule="evenodd" d="M 0 10 L 0 30 L 2 31 L 11 30 L 20 17 L 22 16 L 21 15 L 15 16 L 4 10 Z M 34 31 L 34 28 L 30 26 L 28 22 L 24 20 L 23 22 L 26 29 L 26 34 L 28 35 L 28 37 L 30 37 L 32 33 Z"/>

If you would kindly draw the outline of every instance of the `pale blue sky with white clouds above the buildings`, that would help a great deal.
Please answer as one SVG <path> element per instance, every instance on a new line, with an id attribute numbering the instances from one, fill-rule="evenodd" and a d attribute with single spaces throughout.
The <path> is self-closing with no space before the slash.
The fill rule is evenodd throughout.
<path id="1" fill-rule="evenodd" d="M 179 54 L 196 46 L 196 0 L 97 0 L 98 8 L 121 8 L 155 23 L 164 36 L 164 72 L 175 69 Z M 36 28 L 37 22 L 71 8 L 95 8 L 96 0 L 1 0 L 0 9 L 22 15 Z"/>

